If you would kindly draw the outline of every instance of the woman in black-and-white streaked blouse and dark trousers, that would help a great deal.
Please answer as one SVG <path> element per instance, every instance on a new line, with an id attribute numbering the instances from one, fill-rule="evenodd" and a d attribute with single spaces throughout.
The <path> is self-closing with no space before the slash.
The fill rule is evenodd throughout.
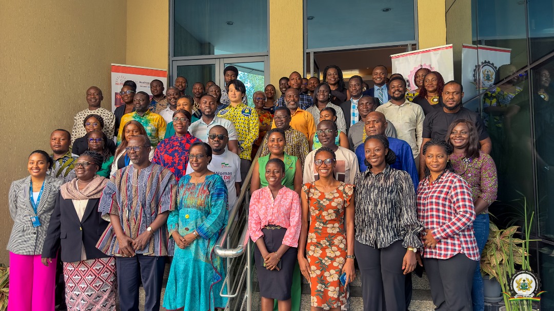
<path id="1" fill-rule="evenodd" d="M 355 253 L 362 274 L 363 309 L 406 310 L 406 274 L 416 268 L 423 229 L 410 175 L 391 168 L 396 154 L 384 135 L 366 139 L 367 170 L 356 175 Z M 384 298 L 384 299 L 383 299 Z"/>

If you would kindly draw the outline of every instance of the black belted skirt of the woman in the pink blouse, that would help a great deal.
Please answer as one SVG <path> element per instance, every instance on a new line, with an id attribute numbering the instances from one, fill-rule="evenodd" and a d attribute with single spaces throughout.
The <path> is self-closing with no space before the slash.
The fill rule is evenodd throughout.
<path id="1" fill-rule="evenodd" d="M 273 226 L 273 225 L 271 225 Z M 264 234 L 265 248 L 273 253 L 279 250 L 286 228 L 280 229 L 261 229 Z M 254 243 L 255 245 L 255 243 Z M 260 286 L 260 296 L 277 300 L 290 299 L 291 287 L 293 286 L 293 271 L 297 261 L 297 248 L 289 249 L 281 256 L 281 269 L 277 271 L 268 270 L 264 267 L 264 261 L 261 258 L 261 252 L 258 246 L 254 247 L 254 261 L 258 271 L 258 283 Z"/>

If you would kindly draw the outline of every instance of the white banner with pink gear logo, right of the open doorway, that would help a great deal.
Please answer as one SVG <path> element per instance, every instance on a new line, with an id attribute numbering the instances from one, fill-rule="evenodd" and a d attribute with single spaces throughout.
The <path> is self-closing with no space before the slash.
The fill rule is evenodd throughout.
<path id="1" fill-rule="evenodd" d="M 392 72 L 401 74 L 406 79 L 408 90 L 417 89 L 417 86 L 414 85 L 414 75 L 420 68 L 440 72 L 444 82 L 454 80 L 452 44 L 394 54 L 391 55 L 391 60 Z"/>

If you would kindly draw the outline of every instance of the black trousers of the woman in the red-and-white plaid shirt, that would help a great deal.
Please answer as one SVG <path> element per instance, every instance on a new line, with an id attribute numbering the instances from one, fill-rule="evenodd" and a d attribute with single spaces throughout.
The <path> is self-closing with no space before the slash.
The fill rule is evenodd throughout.
<path id="1" fill-rule="evenodd" d="M 464 254 L 448 259 L 423 258 L 431 298 L 438 311 L 472 311 L 471 286 L 477 262 Z"/>

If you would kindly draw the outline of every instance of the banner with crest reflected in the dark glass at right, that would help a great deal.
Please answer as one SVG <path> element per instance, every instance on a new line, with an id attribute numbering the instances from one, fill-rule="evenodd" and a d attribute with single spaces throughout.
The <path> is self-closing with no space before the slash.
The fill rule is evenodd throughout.
<path id="1" fill-rule="evenodd" d="M 511 49 L 484 45 L 461 45 L 461 85 L 464 99 L 469 100 L 496 81 L 496 72 L 501 65 L 510 64 Z"/>

